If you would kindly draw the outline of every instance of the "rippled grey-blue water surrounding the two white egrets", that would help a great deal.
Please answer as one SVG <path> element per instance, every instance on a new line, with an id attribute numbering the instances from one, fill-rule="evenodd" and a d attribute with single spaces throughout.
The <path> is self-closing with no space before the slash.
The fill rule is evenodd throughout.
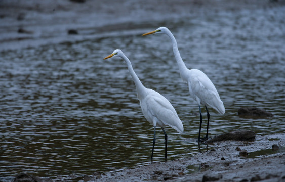
<path id="1" fill-rule="evenodd" d="M 264 135 L 285 131 L 284 12 L 221 12 L 217 17 L 154 22 L 146 28 L 168 26 L 186 66 L 202 70 L 215 84 L 226 113 L 209 110 L 210 136 L 236 129 Z M 180 79 L 170 40 L 166 35 L 141 37 L 145 32 L 113 31 L 112 37 L 0 53 L 3 180 L 20 172 L 54 178 L 150 162 L 153 128 L 142 115 L 133 80 L 124 61 L 103 60 L 114 49 L 123 50 L 143 84 L 169 99 L 183 121 L 182 135 L 166 128 L 169 160 L 199 152 L 198 106 Z M 237 115 L 240 107 L 251 106 L 274 117 Z M 156 136 L 154 161 L 164 161 L 160 129 Z"/>

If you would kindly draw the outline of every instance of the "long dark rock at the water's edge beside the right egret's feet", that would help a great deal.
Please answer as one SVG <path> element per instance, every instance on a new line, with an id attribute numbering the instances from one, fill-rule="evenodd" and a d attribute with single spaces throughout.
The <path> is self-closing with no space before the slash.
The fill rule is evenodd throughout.
<path id="1" fill-rule="evenodd" d="M 209 144 L 217 141 L 226 141 L 226 140 L 252 140 L 254 138 L 255 138 L 255 133 L 253 131 L 238 130 L 215 136 L 213 139 L 206 141 L 206 143 Z"/>

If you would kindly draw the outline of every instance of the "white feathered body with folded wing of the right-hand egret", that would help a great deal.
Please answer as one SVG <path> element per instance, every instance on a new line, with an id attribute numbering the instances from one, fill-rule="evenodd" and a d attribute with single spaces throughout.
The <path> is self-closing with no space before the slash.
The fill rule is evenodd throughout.
<path id="1" fill-rule="evenodd" d="M 216 87 L 208 76 L 197 69 L 191 69 L 189 74 L 188 87 L 191 96 L 198 104 L 210 106 L 220 114 L 224 114 L 224 104 L 220 99 Z"/>

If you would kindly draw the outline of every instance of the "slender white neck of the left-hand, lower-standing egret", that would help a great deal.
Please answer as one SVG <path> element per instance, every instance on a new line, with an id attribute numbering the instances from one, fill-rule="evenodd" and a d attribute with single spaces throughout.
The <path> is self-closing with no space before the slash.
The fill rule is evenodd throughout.
<path id="1" fill-rule="evenodd" d="M 137 93 L 138 93 L 138 99 L 141 100 L 145 96 L 147 88 L 142 84 L 139 77 L 136 75 L 129 58 L 124 54 L 121 56 L 121 58 L 123 58 L 127 64 L 128 70 L 129 70 L 129 72 L 130 72 L 130 74 L 131 74 L 131 76 L 135 82 L 135 85 L 136 85 L 136 89 L 137 89 Z"/>

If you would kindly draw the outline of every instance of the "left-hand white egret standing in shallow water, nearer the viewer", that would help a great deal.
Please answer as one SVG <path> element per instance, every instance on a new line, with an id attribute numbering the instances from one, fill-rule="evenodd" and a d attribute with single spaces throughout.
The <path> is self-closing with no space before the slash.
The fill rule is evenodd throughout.
<path id="1" fill-rule="evenodd" d="M 154 135 L 153 135 L 153 145 L 152 145 L 152 152 L 151 152 L 151 162 L 153 157 L 153 150 L 155 144 L 155 129 L 157 127 L 161 127 L 162 131 L 165 134 L 165 158 L 167 159 L 167 134 L 164 130 L 164 127 L 169 125 L 180 134 L 183 133 L 183 124 L 179 119 L 174 107 L 170 104 L 170 102 L 158 92 L 146 88 L 136 75 L 135 71 L 133 70 L 132 64 L 130 60 L 125 56 L 125 54 L 117 49 L 112 54 L 107 56 L 104 59 L 108 59 L 111 57 L 120 57 L 123 58 L 127 64 L 128 70 L 135 82 L 138 100 L 140 101 L 140 105 L 142 108 L 142 112 L 146 120 L 153 125 L 154 127 Z"/>

